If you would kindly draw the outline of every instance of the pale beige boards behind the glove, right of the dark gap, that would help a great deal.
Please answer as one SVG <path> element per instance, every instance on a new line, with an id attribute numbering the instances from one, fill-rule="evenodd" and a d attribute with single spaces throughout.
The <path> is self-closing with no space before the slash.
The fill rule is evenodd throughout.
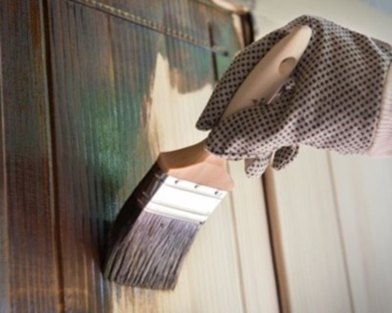
<path id="1" fill-rule="evenodd" d="M 256 37 L 302 14 L 392 43 L 391 13 L 356 0 L 256 1 Z M 392 312 L 392 158 L 301 147 L 268 184 L 284 311 Z"/>

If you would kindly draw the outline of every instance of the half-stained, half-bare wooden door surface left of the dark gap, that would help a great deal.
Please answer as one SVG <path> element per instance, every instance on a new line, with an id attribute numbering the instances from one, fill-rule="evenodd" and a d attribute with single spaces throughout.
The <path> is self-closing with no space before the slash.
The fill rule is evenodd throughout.
<path id="1" fill-rule="evenodd" d="M 194 125 L 244 45 L 243 19 L 206 0 L 0 8 L 0 312 L 277 312 L 260 181 L 203 225 L 174 291 L 117 286 L 100 269 L 157 153 L 205 136 Z"/>

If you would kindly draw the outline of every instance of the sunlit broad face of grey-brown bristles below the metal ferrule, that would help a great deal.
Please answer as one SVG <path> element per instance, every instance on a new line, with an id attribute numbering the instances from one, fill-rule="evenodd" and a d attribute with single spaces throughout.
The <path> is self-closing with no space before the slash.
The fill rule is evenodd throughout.
<path id="1" fill-rule="evenodd" d="M 173 289 L 198 224 L 142 211 L 113 247 L 105 276 L 119 284 Z"/>

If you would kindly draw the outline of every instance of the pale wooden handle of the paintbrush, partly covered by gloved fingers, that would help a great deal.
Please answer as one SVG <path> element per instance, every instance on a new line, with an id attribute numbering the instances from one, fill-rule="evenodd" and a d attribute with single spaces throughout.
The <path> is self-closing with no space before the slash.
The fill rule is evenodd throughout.
<path id="1" fill-rule="evenodd" d="M 287 81 L 303 52 L 312 29 L 297 26 L 274 45 L 248 74 L 231 99 L 222 118 L 264 99 L 270 102 Z M 161 153 L 158 164 L 167 174 L 221 190 L 234 186 L 227 173 L 226 160 L 205 149 L 205 139 L 180 150 Z"/>

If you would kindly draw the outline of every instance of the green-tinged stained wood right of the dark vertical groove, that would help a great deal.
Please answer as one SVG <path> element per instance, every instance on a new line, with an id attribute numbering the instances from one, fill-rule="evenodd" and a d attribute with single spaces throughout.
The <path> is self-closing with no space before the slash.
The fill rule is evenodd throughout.
<path id="1" fill-rule="evenodd" d="M 159 150 L 152 93 L 163 81 L 185 99 L 211 89 L 214 54 L 223 69 L 239 48 L 231 13 L 196 1 L 50 1 L 48 22 L 62 306 L 154 312 L 158 293 L 103 280 L 102 247 Z"/>

